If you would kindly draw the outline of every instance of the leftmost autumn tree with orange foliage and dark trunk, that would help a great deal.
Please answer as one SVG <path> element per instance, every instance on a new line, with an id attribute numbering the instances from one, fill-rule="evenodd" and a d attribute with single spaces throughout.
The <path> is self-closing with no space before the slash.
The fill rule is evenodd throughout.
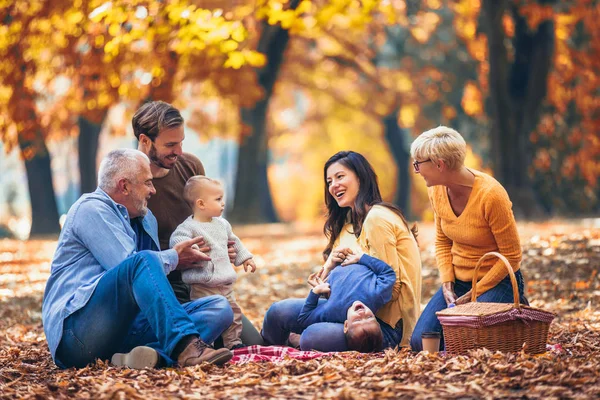
<path id="1" fill-rule="evenodd" d="M 25 163 L 31 200 L 31 236 L 60 230 L 52 184 L 50 153 L 36 101 L 36 81 L 49 80 L 55 52 L 68 45 L 63 20 L 67 2 L 5 2 L 0 11 L 0 139 L 10 150 L 18 146 Z M 69 15 L 68 13 L 66 14 Z"/>

